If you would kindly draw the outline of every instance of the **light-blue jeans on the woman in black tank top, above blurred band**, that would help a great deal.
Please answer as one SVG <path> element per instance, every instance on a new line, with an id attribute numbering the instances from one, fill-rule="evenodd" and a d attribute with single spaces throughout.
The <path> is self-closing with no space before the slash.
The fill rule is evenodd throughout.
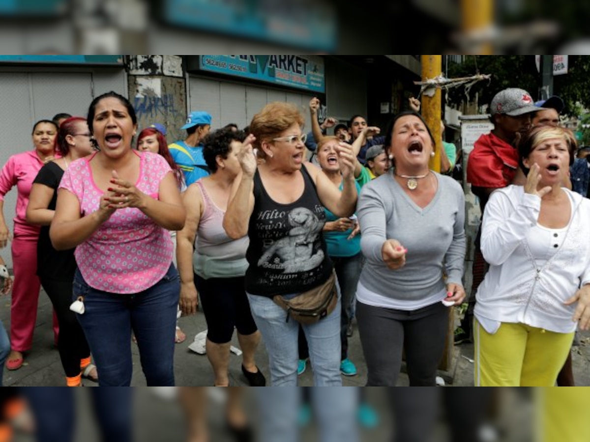
<path id="1" fill-rule="evenodd" d="M 336 287 L 338 288 L 337 284 Z M 293 298 L 297 294 L 286 298 Z M 268 352 L 271 385 L 296 387 L 299 322 L 293 319 L 286 322 L 287 312 L 266 296 L 248 293 L 248 299 L 252 316 Z M 316 387 L 341 386 L 340 289 L 338 288 L 338 304 L 330 315 L 315 324 L 301 326 L 309 346 L 313 384 Z"/>

